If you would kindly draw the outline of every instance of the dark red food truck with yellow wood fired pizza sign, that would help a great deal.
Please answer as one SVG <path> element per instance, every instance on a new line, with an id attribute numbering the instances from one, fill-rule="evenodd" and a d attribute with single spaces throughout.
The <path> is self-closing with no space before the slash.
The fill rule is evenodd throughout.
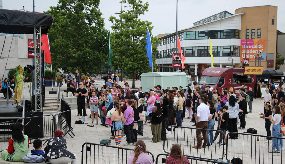
<path id="1" fill-rule="evenodd" d="M 238 97 L 239 89 L 245 84 L 245 89 L 253 88 L 255 84 L 255 75 L 262 74 L 263 67 L 261 66 L 245 66 L 244 68 L 219 68 L 209 67 L 203 70 L 202 76 L 196 85 L 202 86 L 203 81 L 206 86 L 211 86 L 213 92 L 215 88 L 221 93 L 222 88 L 233 90 Z"/>

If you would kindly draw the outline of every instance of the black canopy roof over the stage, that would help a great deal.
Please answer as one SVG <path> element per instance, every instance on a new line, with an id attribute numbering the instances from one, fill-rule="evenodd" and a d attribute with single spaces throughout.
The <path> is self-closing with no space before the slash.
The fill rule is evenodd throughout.
<path id="1" fill-rule="evenodd" d="M 52 16 L 0 9 L 0 33 L 34 34 L 34 27 L 41 27 L 41 34 L 48 34 Z"/>

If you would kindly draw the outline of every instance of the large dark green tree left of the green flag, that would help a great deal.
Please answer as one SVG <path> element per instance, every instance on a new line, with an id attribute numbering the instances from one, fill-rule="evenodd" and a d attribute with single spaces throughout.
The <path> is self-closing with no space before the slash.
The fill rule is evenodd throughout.
<path id="1" fill-rule="evenodd" d="M 99 0 L 59 0 L 45 14 L 54 23 L 48 33 L 53 68 L 82 73 L 99 72 L 107 59 L 107 30 Z"/>

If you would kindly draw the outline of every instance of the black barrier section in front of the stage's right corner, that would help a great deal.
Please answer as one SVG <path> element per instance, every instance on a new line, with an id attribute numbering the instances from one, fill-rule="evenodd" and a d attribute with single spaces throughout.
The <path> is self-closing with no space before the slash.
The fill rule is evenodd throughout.
<path id="1" fill-rule="evenodd" d="M 54 116 L 52 114 L 19 118 L 16 122 L 22 123 L 23 120 L 24 134 L 29 137 L 30 143 L 33 143 L 35 139 L 47 141 L 53 137 Z"/>

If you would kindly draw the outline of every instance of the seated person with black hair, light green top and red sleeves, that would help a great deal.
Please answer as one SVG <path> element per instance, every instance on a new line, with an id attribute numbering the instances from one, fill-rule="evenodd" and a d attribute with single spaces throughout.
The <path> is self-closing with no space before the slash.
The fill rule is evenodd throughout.
<path id="1" fill-rule="evenodd" d="M 11 130 L 12 137 L 9 139 L 8 149 L 1 152 L 1 158 L 5 161 L 24 161 L 22 157 L 29 153 L 29 138 L 22 133 L 21 123 L 11 125 Z"/>

